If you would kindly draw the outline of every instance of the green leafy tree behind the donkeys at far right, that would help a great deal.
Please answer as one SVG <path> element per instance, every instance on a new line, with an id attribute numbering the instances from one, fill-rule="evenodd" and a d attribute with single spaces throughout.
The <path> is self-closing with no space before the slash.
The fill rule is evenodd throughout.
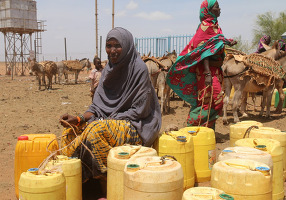
<path id="1" fill-rule="evenodd" d="M 270 35 L 272 42 L 281 39 L 281 35 L 286 32 L 286 12 L 279 13 L 278 17 L 272 12 L 267 12 L 257 16 L 254 38 L 252 44 L 257 46 L 263 35 Z"/>

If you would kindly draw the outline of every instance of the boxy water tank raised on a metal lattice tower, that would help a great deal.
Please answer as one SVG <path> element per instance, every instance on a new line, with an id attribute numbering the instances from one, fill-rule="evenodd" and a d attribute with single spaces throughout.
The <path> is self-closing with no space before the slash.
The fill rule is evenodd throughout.
<path id="1" fill-rule="evenodd" d="M 44 26 L 44 21 L 37 20 L 36 1 L 0 0 L 0 31 L 4 34 L 7 75 L 11 74 L 12 78 L 13 74 L 24 75 L 28 71 L 27 58 L 37 58 L 42 53 Z"/>

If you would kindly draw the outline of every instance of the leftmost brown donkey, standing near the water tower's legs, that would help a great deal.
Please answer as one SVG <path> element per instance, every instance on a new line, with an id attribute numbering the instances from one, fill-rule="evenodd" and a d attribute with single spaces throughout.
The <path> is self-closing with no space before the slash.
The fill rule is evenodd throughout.
<path id="1" fill-rule="evenodd" d="M 45 89 L 52 89 L 52 79 L 57 73 L 57 65 L 53 61 L 43 61 L 38 63 L 36 59 L 28 58 L 28 66 L 30 74 L 34 72 L 39 81 L 39 90 L 41 90 L 41 81 L 43 81 Z M 45 76 L 48 77 L 48 87 L 46 85 Z"/>

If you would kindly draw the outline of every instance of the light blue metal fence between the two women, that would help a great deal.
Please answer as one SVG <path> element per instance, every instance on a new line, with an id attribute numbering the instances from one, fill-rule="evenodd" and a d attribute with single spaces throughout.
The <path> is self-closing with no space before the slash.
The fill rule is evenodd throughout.
<path id="1" fill-rule="evenodd" d="M 150 56 L 161 57 L 166 51 L 181 53 L 192 37 L 193 35 L 135 38 L 135 46 L 140 55 L 151 52 Z"/>

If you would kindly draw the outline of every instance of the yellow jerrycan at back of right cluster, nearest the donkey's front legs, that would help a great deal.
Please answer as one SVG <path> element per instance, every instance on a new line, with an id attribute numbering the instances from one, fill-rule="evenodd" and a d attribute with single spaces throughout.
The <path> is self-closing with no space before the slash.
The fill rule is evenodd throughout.
<path id="1" fill-rule="evenodd" d="M 247 121 L 241 121 L 236 124 L 230 125 L 229 146 L 233 147 L 235 146 L 234 143 L 237 140 L 243 139 L 246 130 L 251 126 L 262 127 L 263 124 L 257 121 L 247 120 Z"/>

